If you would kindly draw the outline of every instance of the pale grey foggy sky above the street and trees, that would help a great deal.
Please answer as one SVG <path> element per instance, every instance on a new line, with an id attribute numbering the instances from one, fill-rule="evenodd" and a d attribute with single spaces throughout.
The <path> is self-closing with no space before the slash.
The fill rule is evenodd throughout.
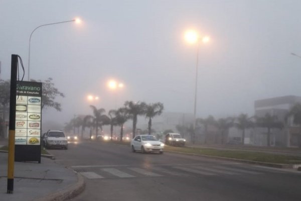
<path id="1" fill-rule="evenodd" d="M 254 100 L 301 95 L 301 1 L 16 1 L 0 0 L 1 79 L 11 54 L 22 57 L 27 80 L 29 36 L 35 31 L 31 78 L 53 82 L 66 97 L 61 113 L 43 120 L 69 122 L 125 100 L 162 102 L 165 112 L 193 113 L 197 46 L 184 33 L 209 35 L 200 46 L 197 116 L 254 113 Z M 110 91 L 106 82 L 124 83 Z M 86 96 L 100 97 L 88 103 Z"/>

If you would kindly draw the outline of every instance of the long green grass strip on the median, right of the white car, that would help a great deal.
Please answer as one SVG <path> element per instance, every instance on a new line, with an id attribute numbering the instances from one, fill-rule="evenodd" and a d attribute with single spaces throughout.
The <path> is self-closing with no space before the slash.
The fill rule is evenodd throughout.
<path id="1" fill-rule="evenodd" d="M 165 150 L 200 154 L 200 155 L 207 155 L 207 156 L 235 158 L 235 159 L 258 161 L 258 162 L 268 162 L 268 163 L 278 163 L 278 164 L 301 164 L 301 157 L 254 152 L 254 151 L 217 150 L 214 148 L 210 149 L 210 148 L 172 147 L 172 146 L 166 146 Z"/>

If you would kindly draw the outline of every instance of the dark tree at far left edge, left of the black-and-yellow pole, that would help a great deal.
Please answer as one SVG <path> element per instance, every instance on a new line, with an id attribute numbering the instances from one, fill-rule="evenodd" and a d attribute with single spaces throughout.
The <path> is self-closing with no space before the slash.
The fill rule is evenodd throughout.
<path id="1" fill-rule="evenodd" d="M 0 80 L 0 106 L 2 110 L 2 121 L 3 127 L 0 132 L 0 137 L 5 137 L 5 120 L 6 120 L 6 112 L 9 110 L 10 106 L 10 96 L 11 96 L 11 82 L 10 80 Z"/>

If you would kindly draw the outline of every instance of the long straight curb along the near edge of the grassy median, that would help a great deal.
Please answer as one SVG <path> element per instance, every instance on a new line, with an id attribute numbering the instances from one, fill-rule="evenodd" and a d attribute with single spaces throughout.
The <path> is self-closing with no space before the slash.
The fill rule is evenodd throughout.
<path id="1" fill-rule="evenodd" d="M 167 151 L 167 150 L 165 150 Z M 267 162 L 260 162 L 260 161 L 252 161 L 252 160 L 243 160 L 243 159 L 236 159 L 236 158 L 226 158 L 226 157 L 220 157 L 220 156 L 208 156 L 208 155 L 202 155 L 202 154 L 194 154 L 194 153 L 185 153 L 180 151 L 167 151 L 171 153 L 179 153 L 179 154 L 186 154 L 186 155 L 194 155 L 194 156 L 202 156 L 207 158 L 214 158 L 214 159 L 220 159 L 220 160 L 228 160 L 228 161 L 235 161 L 235 162 L 243 162 L 248 164 L 255 164 L 255 165 L 262 165 L 267 167 L 275 167 L 275 168 L 287 168 L 287 169 L 296 169 L 301 171 L 301 164 L 279 164 L 279 163 L 267 163 Z"/>

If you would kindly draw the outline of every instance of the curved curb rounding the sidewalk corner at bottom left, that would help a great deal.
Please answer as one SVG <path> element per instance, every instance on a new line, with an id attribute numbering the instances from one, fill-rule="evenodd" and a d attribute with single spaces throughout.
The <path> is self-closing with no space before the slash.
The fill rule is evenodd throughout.
<path id="1" fill-rule="evenodd" d="M 67 167 L 67 169 L 70 169 Z M 71 170 L 71 169 L 70 169 Z M 33 201 L 62 201 L 71 199 L 84 191 L 86 184 L 83 176 L 72 170 L 77 175 L 77 182 L 69 187 L 55 193 L 50 193 L 42 198 L 33 199 Z"/>

